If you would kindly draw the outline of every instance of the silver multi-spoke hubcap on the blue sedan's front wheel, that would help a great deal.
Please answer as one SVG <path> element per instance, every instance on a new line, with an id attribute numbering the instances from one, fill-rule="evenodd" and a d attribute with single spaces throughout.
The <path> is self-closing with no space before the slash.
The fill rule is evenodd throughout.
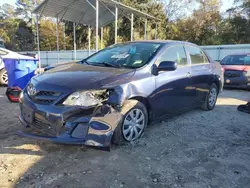
<path id="1" fill-rule="evenodd" d="M 127 141 L 139 138 L 145 127 L 145 116 L 140 109 L 131 110 L 125 117 L 122 134 Z"/>

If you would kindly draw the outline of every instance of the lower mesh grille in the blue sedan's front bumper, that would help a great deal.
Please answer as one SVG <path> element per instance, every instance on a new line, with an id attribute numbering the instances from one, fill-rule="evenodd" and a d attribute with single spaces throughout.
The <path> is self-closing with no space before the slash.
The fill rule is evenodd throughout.
<path id="1" fill-rule="evenodd" d="M 56 136 L 56 128 L 48 122 L 38 119 L 37 117 L 35 117 L 31 127 L 33 128 L 33 131 L 39 135 L 52 137 Z"/>

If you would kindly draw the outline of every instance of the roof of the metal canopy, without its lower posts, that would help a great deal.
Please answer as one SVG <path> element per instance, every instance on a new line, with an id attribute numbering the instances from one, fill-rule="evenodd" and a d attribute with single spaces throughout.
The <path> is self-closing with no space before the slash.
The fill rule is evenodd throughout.
<path id="1" fill-rule="evenodd" d="M 98 27 L 104 27 L 115 20 L 115 9 L 121 15 L 158 20 L 157 18 L 113 0 L 99 0 Z M 74 23 L 96 26 L 96 0 L 44 0 L 33 11 L 35 14 L 59 18 Z"/>

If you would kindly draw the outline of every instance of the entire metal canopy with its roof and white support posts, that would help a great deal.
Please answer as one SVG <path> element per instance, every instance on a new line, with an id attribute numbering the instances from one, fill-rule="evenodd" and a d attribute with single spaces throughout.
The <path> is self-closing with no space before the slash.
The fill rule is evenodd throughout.
<path id="1" fill-rule="evenodd" d="M 124 5 L 114 0 L 44 0 L 39 4 L 33 13 L 37 18 L 37 45 L 38 56 L 40 59 L 40 44 L 39 44 L 39 27 L 38 21 L 42 16 L 56 18 L 56 35 L 57 35 L 57 51 L 59 53 L 59 36 L 58 36 L 58 24 L 62 20 L 73 22 L 73 35 L 74 35 L 74 59 L 76 59 L 76 26 L 79 24 L 88 26 L 88 41 L 89 41 L 89 54 L 90 54 L 90 39 L 91 39 L 91 27 L 95 27 L 96 30 L 96 51 L 99 50 L 99 28 L 101 28 L 101 47 L 103 37 L 103 27 L 109 23 L 115 21 L 115 43 L 117 43 L 117 30 L 118 30 L 118 12 L 122 16 L 126 16 L 131 21 L 131 41 L 133 41 L 134 31 L 134 16 L 142 17 L 145 19 L 145 33 L 144 38 L 147 39 L 147 21 L 159 19 L 141 12 L 135 8 Z M 101 15 L 101 16 L 100 16 Z M 131 15 L 131 16 L 128 16 Z M 77 24 L 77 25 L 76 25 Z M 157 27 L 156 27 L 157 28 Z M 157 35 L 157 31 L 156 31 Z M 157 36 L 155 36 L 156 38 Z M 59 61 L 59 55 L 58 55 Z M 41 67 L 39 60 L 39 67 Z"/>

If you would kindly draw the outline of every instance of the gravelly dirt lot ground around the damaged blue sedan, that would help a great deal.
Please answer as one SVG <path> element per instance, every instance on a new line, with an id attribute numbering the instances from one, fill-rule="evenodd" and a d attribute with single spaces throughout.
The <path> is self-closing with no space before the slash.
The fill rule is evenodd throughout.
<path id="1" fill-rule="evenodd" d="M 0 88 L 0 187 L 250 187 L 250 115 L 236 110 L 246 91 L 224 91 L 199 109 L 148 127 L 136 144 L 111 152 L 15 135 L 18 105 Z"/>

